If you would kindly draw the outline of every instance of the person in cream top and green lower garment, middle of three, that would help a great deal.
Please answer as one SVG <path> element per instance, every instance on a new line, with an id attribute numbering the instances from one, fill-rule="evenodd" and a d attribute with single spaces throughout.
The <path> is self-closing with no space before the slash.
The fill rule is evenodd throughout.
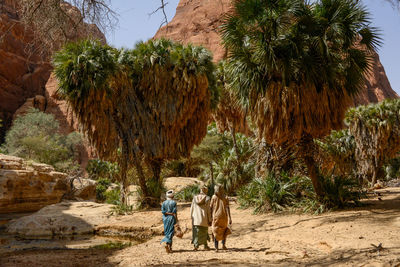
<path id="1" fill-rule="evenodd" d="M 205 250 L 208 247 L 208 226 L 211 225 L 210 197 L 207 196 L 208 188 L 203 186 L 200 194 L 193 197 L 190 207 L 192 217 L 192 244 L 194 250 L 198 250 L 200 245 L 204 245 Z"/>

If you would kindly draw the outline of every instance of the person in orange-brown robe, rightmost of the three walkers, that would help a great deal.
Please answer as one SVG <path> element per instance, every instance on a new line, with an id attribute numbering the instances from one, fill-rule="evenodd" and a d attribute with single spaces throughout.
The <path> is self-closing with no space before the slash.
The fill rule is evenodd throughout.
<path id="1" fill-rule="evenodd" d="M 215 249 L 218 251 L 218 242 L 222 241 L 222 249 L 227 249 L 226 236 L 230 234 L 229 224 L 232 224 L 229 200 L 225 196 L 224 190 L 220 185 L 214 187 L 214 195 L 210 202 L 212 216 L 212 232 L 214 237 Z"/>

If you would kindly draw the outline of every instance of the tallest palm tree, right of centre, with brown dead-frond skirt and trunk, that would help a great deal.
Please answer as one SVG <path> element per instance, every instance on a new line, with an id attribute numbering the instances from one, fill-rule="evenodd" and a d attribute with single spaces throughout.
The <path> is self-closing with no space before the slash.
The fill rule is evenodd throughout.
<path id="1" fill-rule="evenodd" d="M 258 134 L 297 147 L 318 196 L 313 138 L 342 127 L 379 44 L 356 0 L 235 0 L 221 27 L 231 87 Z"/>

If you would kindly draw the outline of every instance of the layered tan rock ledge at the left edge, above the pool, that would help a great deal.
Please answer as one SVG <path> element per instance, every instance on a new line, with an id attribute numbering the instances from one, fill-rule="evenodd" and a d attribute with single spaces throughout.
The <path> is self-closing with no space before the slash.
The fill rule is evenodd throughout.
<path id="1" fill-rule="evenodd" d="M 0 213 L 37 211 L 70 191 L 65 173 L 0 154 Z"/>

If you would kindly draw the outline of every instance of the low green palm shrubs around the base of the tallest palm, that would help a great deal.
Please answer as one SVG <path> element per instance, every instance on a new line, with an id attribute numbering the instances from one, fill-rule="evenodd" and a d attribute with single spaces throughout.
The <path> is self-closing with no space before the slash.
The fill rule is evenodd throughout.
<path id="1" fill-rule="evenodd" d="M 316 197 L 308 177 L 269 173 L 242 187 L 238 201 L 242 208 L 254 208 L 255 213 L 291 209 L 318 214 L 330 209 L 360 205 L 360 199 L 366 196 L 352 177 L 319 175 L 319 179 L 325 192 L 323 199 Z"/>

